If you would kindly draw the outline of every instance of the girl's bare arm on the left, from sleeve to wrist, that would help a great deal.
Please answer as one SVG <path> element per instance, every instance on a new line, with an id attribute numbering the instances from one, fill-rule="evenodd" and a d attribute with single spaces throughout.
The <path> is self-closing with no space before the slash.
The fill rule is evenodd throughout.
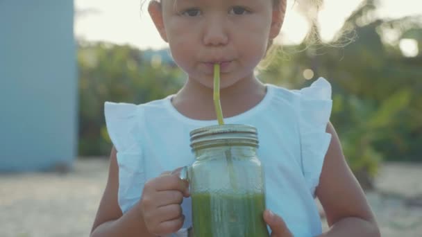
<path id="1" fill-rule="evenodd" d="M 146 231 L 141 212 L 137 207 L 130 209 L 124 215 L 117 202 L 119 188 L 119 168 L 117 166 L 116 150 L 110 155 L 108 182 L 105 186 L 103 198 L 96 213 L 91 236 L 154 236 Z"/>

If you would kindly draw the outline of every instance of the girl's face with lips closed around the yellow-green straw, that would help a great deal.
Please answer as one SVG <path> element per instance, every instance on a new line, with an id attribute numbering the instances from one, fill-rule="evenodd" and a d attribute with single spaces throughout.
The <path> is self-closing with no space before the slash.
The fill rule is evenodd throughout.
<path id="1" fill-rule="evenodd" d="M 149 12 L 176 64 L 210 88 L 216 63 L 221 87 L 253 78 L 284 15 L 272 0 L 162 0 Z"/>

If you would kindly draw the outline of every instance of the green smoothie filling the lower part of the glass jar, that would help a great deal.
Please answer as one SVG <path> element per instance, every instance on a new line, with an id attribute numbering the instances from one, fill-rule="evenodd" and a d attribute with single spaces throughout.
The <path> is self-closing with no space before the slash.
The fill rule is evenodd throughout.
<path id="1" fill-rule="evenodd" d="M 268 237 L 264 195 L 192 194 L 195 237 Z"/>

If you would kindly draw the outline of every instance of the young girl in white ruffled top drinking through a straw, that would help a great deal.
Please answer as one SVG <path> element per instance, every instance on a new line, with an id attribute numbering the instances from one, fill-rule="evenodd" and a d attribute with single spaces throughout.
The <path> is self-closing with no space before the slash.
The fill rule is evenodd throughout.
<path id="1" fill-rule="evenodd" d="M 91 236 L 187 236 L 188 184 L 176 168 L 194 161 L 189 132 L 217 124 L 214 64 L 221 67 L 226 123 L 259 131 L 269 209 L 263 218 L 271 236 L 380 236 L 329 122 L 328 81 L 320 78 L 292 91 L 255 78 L 285 8 L 286 0 L 150 1 L 149 14 L 188 79 L 162 100 L 105 103 L 115 148 Z M 316 197 L 330 226 L 326 233 Z"/>

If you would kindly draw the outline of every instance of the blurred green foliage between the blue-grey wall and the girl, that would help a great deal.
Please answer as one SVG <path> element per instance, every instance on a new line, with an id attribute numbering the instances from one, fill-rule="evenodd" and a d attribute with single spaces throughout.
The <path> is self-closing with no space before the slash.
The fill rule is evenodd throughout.
<path id="1" fill-rule="evenodd" d="M 175 65 L 145 60 L 130 46 L 81 43 L 79 68 L 79 154 L 106 155 L 111 143 L 105 128 L 105 101 L 146 103 L 183 84 Z"/>

